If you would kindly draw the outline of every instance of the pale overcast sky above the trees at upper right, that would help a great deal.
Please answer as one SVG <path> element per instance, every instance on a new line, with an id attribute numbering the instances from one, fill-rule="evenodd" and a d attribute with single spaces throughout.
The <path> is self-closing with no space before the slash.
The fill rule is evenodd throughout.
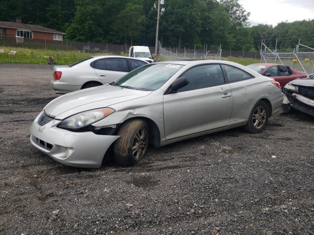
<path id="1" fill-rule="evenodd" d="M 251 25 L 314 19 L 314 0 L 239 0 L 251 13 Z"/>

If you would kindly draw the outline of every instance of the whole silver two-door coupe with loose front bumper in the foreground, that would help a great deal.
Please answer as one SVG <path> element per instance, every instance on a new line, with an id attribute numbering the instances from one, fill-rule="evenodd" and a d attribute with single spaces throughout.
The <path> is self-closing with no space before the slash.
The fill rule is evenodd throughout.
<path id="1" fill-rule="evenodd" d="M 149 144 L 239 126 L 260 133 L 282 101 L 278 82 L 233 62 L 159 62 L 52 100 L 32 123 L 30 141 L 67 165 L 100 167 L 109 148 L 117 164 L 132 165 Z"/>

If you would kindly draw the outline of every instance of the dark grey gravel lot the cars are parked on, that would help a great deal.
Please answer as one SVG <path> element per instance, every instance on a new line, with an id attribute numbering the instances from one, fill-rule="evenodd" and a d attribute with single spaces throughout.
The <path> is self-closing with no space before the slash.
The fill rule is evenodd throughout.
<path id="1" fill-rule="evenodd" d="M 276 114 L 151 147 L 132 167 L 79 169 L 29 142 L 48 65 L 0 64 L 0 234 L 314 234 L 314 118 Z"/>

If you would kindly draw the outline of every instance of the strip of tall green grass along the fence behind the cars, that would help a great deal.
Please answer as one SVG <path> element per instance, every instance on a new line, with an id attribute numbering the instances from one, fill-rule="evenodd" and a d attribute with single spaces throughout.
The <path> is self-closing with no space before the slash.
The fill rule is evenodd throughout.
<path id="1" fill-rule="evenodd" d="M 4 50 L 1 53 L 1 49 Z M 17 51 L 15 55 L 9 55 L 9 52 Z M 95 55 L 109 55 L 110 53 L 84 53 L 80 51 L 64 51 L 64 50 L 45 50 L 45 49 L 29 49 L 21 47 L 0 47 L 0 63 L 30 63 L 30 64 L 47 64 L 49 56 L 53 57 L 55 65 L 70 65 L 79 60 Z M 126 53 L 121 53 L 128 56 Z M 158 56 L 157 61 L 169 60 L 167 57 Z M 249 65 L 259 63 L 259 59 L 242 58 L 242 57 L 224 57 L 222 60 L 233 61 L 241 65 Z"/>

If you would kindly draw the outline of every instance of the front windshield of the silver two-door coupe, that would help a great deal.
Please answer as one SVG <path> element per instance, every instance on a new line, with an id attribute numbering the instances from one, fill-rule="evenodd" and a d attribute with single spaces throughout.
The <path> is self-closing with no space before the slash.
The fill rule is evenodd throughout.
<path id="1" fill-rule="evenodd" d="M 114 86 L 143 91 L 155 91 L 183 66 L 174 64 L 144 65 L 112 83 Z"/>

